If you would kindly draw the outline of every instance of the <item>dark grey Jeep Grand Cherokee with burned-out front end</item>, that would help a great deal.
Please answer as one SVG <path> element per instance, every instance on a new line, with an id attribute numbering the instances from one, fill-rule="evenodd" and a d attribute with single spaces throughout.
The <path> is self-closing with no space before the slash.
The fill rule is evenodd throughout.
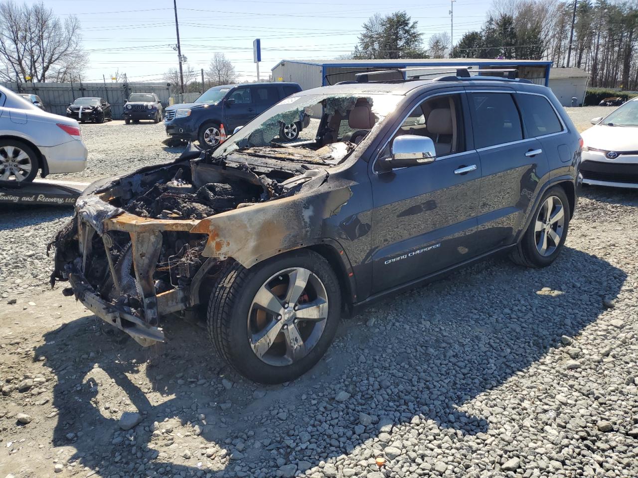
<path id="1" fill-rule="evenodd" d="M 308 127 L 285 139 L 300 113 Z M 215 150 L 91 185 L 52 242 L 52 280 L 142 345 L 167 340 L 169 314 L 200 314 L 238 372 L 285 382 L 385 294 L 498 251 L 551 264 L 581 148 L 525 80 L 299 92 Z"/>

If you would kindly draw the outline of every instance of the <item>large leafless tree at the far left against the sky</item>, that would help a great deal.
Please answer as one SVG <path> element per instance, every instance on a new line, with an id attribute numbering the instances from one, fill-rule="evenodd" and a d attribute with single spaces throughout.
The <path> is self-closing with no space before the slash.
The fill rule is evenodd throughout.
<path id="1" fill-rule="evenodd" d="M 44 3 L 0 3 L 0 77 L 34 82 L 79 75 L 87 56 L 75 15 L 60 20 Z"/>

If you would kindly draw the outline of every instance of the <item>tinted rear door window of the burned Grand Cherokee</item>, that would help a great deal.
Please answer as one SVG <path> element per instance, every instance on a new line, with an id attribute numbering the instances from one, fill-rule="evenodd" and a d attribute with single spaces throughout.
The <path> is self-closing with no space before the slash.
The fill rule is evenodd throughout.
<path id="1" fill-rule="evenodd" d="M 509 93 L 471 93 L 470 110 L 477 149 L 523 139 L 521 118 Z"/>

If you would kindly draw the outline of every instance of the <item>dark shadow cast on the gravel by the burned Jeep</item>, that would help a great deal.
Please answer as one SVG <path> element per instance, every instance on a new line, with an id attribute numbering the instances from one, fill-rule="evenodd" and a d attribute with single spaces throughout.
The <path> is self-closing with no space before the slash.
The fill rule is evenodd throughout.
<path id="1" fill-rule="evenodd" d="M 603 288 L 586 283 L 596 277 Z M 543 270 L 485 261 L 346 321 L 325 358 L 286 386 L 230 372 L 201 324 L 169 321 L 167 344 L 142 349 L 83 317 L 48 332 L 35 352 L 57 376 L 52 443 L 72 445 L 72 458 L 103 476 L 162 469 L 272 477 L 277 458 L 315 467 L 364 444 L 383 447 L 385 432 L 415 417 L 434 435 L 449 429 L 447 437 L 462 440 L 498 426 L 498 416 L 471 412 L 473 399 L 561 347 L 561 337 L 579 335 L 625 277 L 569 248 Z M 339 391 L 350 397 L 335 400 Z M 133 409 L 144 420 L 123 432 L 119 416 Z M 363 429 L 360 412 L 373 422 Z"/>

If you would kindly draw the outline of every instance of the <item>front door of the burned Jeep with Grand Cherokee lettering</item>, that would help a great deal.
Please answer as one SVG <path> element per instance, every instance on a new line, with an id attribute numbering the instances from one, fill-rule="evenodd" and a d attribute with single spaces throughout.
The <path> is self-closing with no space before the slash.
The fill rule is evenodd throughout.
<path id="1" fill-rule="evenodd" d="M 428 136 L 436 161 L 372 171 L 373 290 L 379 293 L 475 256 L 481 168 L 464 92 L 418 101 L 382 150 L 402 134 Z M 374 168 L 374 166 L 373 166 Z"/>

